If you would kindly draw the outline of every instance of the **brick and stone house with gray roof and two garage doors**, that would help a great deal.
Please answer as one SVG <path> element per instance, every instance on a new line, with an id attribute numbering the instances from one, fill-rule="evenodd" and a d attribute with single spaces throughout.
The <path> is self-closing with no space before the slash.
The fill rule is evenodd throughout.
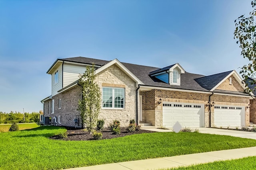
<path id="1" fill-rule="evenodd" d="M 52 94 L 44 104 L 45 124 L 81 126 L 78 76 L 95 64 L 102 92 L 99 117 L 105 126 L 114 119 L 172 127 L 248 126 L 252 97 L 244 92 L 235 70 L 204 76 L 186 72 L 180 64 L 163 68 L 85 57 L 57 59 L 46 72 L 52 76 Z"/>

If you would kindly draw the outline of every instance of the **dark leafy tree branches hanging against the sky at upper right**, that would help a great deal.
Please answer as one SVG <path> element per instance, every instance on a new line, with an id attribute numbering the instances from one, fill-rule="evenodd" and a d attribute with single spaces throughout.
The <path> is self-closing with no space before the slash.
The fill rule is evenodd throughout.
<path id="1" fill-rule="evenodd" d="M 249 64 L 244 65 L 240 71 L 244 82 L 248 77 L 256 75 L 256 0 L 253 0 L 251 5 L 253 10 L 250 12 L 249 17 L 246 18 L 242 15 L 235 20 L 234 39 L 237 40 L 236 43 L 242 49 L 241 55 L 249 60 Z M 248 85 L 250 86 L 254 83 L 255 81 L 246 84 L 246 92 L 251 91 Z"/>

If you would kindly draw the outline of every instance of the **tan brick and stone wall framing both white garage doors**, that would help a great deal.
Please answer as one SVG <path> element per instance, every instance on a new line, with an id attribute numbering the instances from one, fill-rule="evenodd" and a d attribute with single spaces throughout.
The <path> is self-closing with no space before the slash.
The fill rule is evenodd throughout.
<path id="1" fill-rule="evenodd" d="M 233 84 L 235 84 L 234 81 Z M 152 123 L 152 125 L 156 127 L 162 126 L 162 104 L 158 104 L 158 101 L 161 99 L 163 102 L 204 104 L 205 127 L 209 127 L 208 100 L 210 94 L 169 90 L 150 90 L 147 92 L 140 92 L 140 95 L 142 96 L 142 121 L 146 123 Z M 245 108 L 250 103 L 249 97 L 216 94 L 211 96 L 211 102 L 214 102 L 215 105 L 245 106 Z M 245 110 L 246 125 L 249 125 L 249 117 L 250 110 L 247 108 Z M 211 126 L 214 126 L 214 106 L 211 107 Z"/>

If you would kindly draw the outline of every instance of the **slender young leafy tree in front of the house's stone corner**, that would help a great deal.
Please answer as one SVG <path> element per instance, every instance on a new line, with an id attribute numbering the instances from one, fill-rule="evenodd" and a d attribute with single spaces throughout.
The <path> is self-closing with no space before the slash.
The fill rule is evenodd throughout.
<path id="1" fill-rule="evenodd" d="M 78 84 L 82 88 L 82 100 L 78 101 L 82 128 L 85 126 L 92 134 L 92 129 L 97 123 L 101 102 L 100 88 L 95 83 L 94 65 L 86 67 L 84 74 L 80 75 Z"/>

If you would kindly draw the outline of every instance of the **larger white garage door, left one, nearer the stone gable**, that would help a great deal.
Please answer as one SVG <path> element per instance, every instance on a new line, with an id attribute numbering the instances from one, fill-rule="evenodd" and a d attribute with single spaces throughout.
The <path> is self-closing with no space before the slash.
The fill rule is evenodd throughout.
<path id="1" fill-rule="evenodd" d="M 176 122 L 182 127 L 204 127 L 204 104 L 163 103 L 163 126 L 172 128 Z"/>

